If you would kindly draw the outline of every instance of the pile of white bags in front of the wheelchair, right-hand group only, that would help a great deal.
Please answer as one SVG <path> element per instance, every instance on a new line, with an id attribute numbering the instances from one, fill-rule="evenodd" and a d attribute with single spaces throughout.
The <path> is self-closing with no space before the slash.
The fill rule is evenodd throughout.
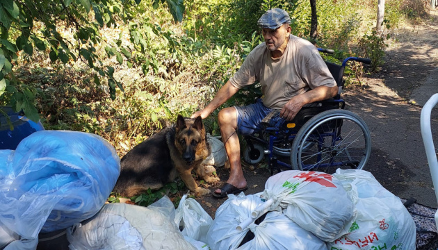
<path id="1" fill-rule="evenodd" d="M 415 249 L 415 240 L 400 199 L 355 169 L 276 174 L 261 194 L 229 195 L 207 233 L 213 250 Z"/>

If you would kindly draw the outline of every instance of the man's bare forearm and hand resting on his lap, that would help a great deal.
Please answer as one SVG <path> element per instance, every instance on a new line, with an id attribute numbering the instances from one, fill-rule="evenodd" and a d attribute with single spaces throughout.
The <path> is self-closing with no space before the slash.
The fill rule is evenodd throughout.
<path id="1" fill-rule="evenodd" d="M 280 117 L 291 121 L 305 104 L 330 99 L 336 96 L 336 94 L 338 94 L 338 86 L 327 87 L 324 85 L 309 90 L 304 94 L 298 94 L 284 104 L 282 110 L 280 110 Z"/>

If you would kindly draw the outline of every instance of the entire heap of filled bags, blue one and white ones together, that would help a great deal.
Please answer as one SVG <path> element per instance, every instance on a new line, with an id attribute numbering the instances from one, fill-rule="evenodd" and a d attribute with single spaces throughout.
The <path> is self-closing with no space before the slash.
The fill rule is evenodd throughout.
<path id="1" fill-rule="evenodd" d="M 403 203 L 363 170 L 276 174 L 214 220 L 186 196 L 177 209 L 104 204 L 119 174 L 115 149 L 88 133 L 38 131 L 0 151 L 0 249 L 65 228 L 70 249 L 415 249 Z"/>

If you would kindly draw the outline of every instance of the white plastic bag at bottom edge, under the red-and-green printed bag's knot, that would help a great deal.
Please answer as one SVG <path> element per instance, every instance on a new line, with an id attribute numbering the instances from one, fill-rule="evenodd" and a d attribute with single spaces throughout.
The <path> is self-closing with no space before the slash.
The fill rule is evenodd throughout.
<path id="1" fill-rule="evenodd" d="M 313 233 L 305 231 L 282 212 L 273 211 L 259 224 L 252 224 L 254 239 L 238 250 L 327 250 L 327 245 Z"/>

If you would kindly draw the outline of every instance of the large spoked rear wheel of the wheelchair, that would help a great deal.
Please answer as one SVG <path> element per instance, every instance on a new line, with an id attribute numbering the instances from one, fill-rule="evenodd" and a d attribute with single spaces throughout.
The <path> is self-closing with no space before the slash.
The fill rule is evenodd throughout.
<path id="1" fill-rule="evenodd" d="M 298 131 L 291 165 L 296 170 L 332 174 L 338 168 L 362 169 L 370 153 L 371 135 L 364 120 L 348 110 L 327 110 Z"/>

